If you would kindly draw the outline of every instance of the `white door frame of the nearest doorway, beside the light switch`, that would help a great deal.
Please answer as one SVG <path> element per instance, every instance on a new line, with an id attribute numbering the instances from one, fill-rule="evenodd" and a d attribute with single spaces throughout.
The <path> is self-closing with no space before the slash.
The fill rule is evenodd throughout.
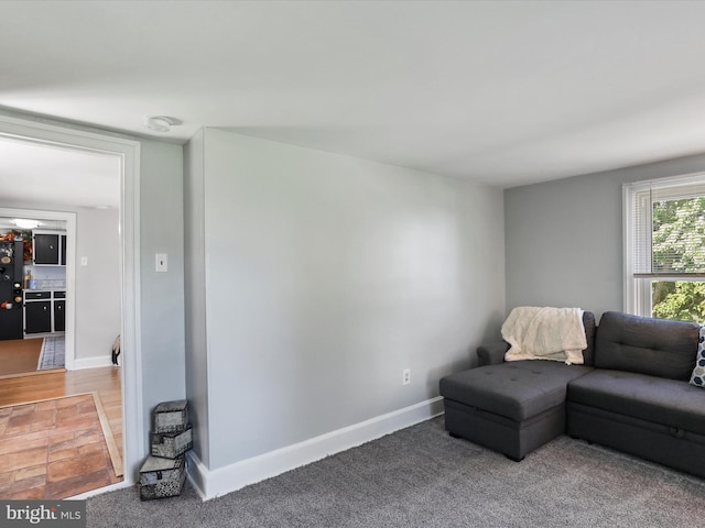
<path id="1" fill-rule="evenodd" d="M 119 484 L 88 492 L 80 497 L 131 486 L 134 484 L 140 458 L 147 449 L 142 420 L 144 406 L 140 324 L 140 142 L 107 133 L 67 128 L 45 119 L 14 117 L 2 112 L 0 112 L 0 138 L 75 151 L 99 152 L 119 156 L 121 160 L 119 224 L 122 277 L 121 385 L 124 477 Z M 72 267 L 75 271 L 75 266 Z"/>

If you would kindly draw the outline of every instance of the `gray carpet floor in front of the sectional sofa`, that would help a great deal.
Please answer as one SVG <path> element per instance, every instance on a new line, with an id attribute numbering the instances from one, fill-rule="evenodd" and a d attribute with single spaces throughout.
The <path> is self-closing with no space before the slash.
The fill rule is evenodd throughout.
<path id="1" fill-rule="evenodd" d="M 88 527 L 692 527 L 705 481 L 561 437 L 517 463 L 436 418 L 202 502 L 88 499 Z"/>

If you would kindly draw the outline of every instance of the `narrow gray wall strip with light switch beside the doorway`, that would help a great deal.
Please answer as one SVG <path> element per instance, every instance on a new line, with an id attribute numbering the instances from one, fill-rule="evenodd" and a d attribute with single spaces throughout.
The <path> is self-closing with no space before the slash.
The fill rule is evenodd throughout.
<path id="1" fill-rule="evenodd" d="M 140 142 L 140 327 L 147 436 L 156 404 L 186 397 L 184 162 L 181 145 Z M 169 255 L 167 273 L 154 271 L 156 253 Z"/>

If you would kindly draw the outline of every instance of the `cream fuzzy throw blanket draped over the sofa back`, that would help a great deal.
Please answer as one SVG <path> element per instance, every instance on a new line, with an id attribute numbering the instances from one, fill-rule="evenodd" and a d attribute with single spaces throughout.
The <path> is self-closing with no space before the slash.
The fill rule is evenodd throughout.
<path id="1" fill-rule="evenodd" d="M 514 308 L 502 324 L 502 339 L 511 348 L 505 361 L 552 360 L 583 364 L 587 348 L 579 308 Z"/>

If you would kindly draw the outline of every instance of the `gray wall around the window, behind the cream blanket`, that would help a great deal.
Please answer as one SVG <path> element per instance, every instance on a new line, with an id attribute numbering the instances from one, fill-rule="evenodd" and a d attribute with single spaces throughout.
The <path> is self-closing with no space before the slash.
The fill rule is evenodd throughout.
<path id="1" fill-rule="evenodd" d="M 622 310 L 622 184 L 701 170 L 705 155 L 505 190 L 507 310 Z"/>

